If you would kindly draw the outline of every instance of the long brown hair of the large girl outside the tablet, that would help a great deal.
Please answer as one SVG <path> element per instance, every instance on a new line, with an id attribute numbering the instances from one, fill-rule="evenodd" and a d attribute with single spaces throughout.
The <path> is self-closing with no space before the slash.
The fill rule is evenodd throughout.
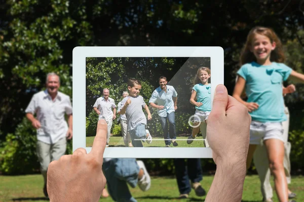
<path id="1" fill-rule="evenodd" d="M 285 61 L 281 40 L 274 32 L 274 30 L 268 27 L 257 26 L 252 28 L 248 33 L 247 41 L 242 49 L 240 56 L 240 66 L 246 63 L 251 63 L 252 61 L 256 62 L 256 58 L 254 57 L 253 53 L 250 51 L 252 40 L 255 34 L 267 36 L 270 39 L 271 43 L 273 42 L 276 43 L 276 48 L 271 52 L 270 61 L 278 62 L 278 63 L 283 63 Z"/>

